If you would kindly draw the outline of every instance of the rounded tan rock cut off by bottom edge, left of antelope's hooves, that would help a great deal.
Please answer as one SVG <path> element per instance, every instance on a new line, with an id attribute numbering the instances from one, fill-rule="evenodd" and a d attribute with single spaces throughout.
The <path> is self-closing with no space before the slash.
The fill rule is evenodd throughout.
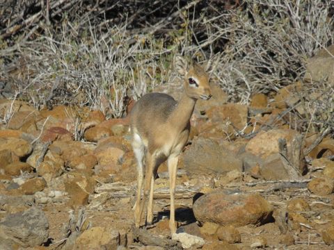
<path id="1" fill-rule="evenodd" d="M 116 249 L 120 242 L 120 234 L 112 228 L 95 226 L 81 233 L 73 249 Z"/>

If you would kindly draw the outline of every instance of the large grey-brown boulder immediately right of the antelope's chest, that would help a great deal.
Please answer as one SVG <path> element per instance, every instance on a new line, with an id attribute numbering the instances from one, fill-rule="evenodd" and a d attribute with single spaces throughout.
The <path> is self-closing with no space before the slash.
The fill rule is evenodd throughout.
<path id="1" fill-rule="evenodd" d="M 182 158 L 189 174 L 223 174 L 242 169 L 242 162 L 234 153 L 211 139 L 193 140 Z"/>

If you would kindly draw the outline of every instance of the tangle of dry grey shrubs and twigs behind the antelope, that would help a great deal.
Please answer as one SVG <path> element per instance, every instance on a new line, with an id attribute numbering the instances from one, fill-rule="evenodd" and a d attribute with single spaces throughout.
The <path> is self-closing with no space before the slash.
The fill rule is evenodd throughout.
<path id="1" fill-rule="evenodd" d="M 302 81 L 306 59 L 334 43 L 326 0 L 259 1 L 1 1 L 1 94 L 36 108 L 89 106 L 125 115 L 167 83 L 175 53 L 213 58 L 212 74 L 230 101 L 277 92 Z M 333 126 L 333 86 L 305 84 L 305 131 Z M 289 110 L 294 115 L 294 110 Z M 3 118 L 3 117 L 1 117 Z M 3 118 L 3 122 L 6 119 Z M 329 124 L 328 124 L 329 123 Z"/>

